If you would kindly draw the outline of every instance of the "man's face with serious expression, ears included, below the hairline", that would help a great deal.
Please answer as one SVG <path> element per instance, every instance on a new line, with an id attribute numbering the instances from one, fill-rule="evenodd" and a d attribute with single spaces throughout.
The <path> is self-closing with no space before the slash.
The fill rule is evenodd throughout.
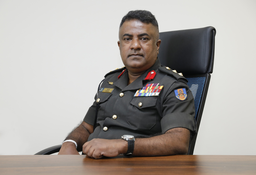
<path id="1" fill-rule="evenodd" d="M 161 40 L 152 24 L 125 21 L 119 30 L 118 46 L 123 64 L 132 74 L 139 74 L 155 64 Z"/>

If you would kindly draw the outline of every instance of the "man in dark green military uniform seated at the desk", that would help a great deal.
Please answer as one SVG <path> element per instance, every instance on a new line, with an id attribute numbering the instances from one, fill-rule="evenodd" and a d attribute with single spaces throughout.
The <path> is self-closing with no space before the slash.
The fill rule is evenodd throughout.
<path id="1" fill-rule="evenodd" d="M 84 121 L 59 154 L 83 151 L 96 159 L 187 154 L 190 134 L 197 132 L 194 98 L 181 73 L 161 66 L 160 43 L 149 11 L 123 17 L 118 46 L 125 67 L 105 75 Z"/>

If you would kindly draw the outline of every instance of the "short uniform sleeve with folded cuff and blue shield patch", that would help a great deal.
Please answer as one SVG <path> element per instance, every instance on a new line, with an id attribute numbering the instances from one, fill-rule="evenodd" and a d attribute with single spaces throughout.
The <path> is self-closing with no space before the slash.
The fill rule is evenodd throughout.
<path id="1" fill-rule="evenodd" d="M 175 90 L 185 90 L 186 99 L 179 99 Z M 176 92 L 177 93 L 177 92 Z M 183 97 L 184 98 L 184 97 Z M 162 133 L 169 129 L 183 127 L 189 129 L 193 134 L 197 133 L 194 97 L 186 83 L 174 82 L 165 95 L 162 106 L 163 118 L 161 119 Z"/>

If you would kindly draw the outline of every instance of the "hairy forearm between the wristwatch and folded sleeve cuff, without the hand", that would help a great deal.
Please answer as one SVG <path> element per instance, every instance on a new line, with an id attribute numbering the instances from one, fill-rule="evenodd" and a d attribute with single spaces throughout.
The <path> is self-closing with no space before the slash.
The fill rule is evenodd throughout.
<path id="1" fill-rule="evenodd" d="M 150 138 L 135 139 L 133 155 L 164 156 L 187 154 L 190 132 L 185 128 L 174 128 L 165 134 Z"/>

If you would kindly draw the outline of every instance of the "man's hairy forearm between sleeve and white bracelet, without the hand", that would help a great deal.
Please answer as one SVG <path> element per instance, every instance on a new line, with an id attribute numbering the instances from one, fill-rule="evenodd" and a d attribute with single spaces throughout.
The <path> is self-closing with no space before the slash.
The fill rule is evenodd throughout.
<path id="1" fill-rule="evenodd" d="M 89 135 L 93 132 L 91 125 L 82 122 L 75 128 L 65 140 L 74 140 L 77 143 L 77 151 L 82 151 L 82 146 L 87 142 Z"/>

